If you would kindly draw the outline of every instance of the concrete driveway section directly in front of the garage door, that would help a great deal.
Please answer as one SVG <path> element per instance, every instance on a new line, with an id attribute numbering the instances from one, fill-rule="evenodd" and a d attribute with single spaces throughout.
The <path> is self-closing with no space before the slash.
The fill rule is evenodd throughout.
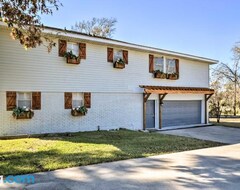
<path id="1" fill-rule="evenodd" d="M 196 139 L 216 141 L 226 144 L 240 143 L 240 128 L 208 126 L 188 129 L 159 131 L 158 133 L 192 137 Z"/>

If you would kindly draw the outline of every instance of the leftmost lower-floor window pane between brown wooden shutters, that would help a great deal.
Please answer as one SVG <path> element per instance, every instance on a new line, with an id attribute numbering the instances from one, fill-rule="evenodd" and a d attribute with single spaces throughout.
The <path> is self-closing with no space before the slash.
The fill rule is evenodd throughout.
<path id="1" fill-rule="evenodd" d="M 17 93 L 17 107 L 31 108 L 32 107 L 32 93 L 18 92 Z"/>

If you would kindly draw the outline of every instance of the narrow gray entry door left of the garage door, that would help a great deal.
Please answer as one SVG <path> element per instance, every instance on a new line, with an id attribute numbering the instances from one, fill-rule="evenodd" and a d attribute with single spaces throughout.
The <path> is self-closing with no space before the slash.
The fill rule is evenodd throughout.
<path id="1" fill-rule="evenodd" d="M 146 127 L 155 128 L 155 100 L 147 101 Z"/>

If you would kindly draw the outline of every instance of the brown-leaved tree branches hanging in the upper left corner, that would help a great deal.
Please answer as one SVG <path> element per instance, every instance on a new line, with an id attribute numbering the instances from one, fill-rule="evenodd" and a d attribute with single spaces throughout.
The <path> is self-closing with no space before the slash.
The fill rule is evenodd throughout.
<path id="1" fill-rule="evenodd" d="M 40 15 L 52 15 L 62 4 L 58 0 L 0 0 L 0 21 L 11 28 L 11 36 L 26 48 L 35 48 L 47 41 L 48 51 L 55 43 L 42 35 Z"/>

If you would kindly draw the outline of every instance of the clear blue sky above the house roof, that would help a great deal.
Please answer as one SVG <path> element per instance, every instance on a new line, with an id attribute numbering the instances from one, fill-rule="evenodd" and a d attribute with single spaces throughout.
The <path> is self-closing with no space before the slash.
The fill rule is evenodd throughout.
<path id="1" fill-rule="evenodd" d="M 70 29 L 92 17 L 118 20 L 114 39 L 231 63 L 240 41 L 239 0 L 60 0 L 45 25 Z"/>

